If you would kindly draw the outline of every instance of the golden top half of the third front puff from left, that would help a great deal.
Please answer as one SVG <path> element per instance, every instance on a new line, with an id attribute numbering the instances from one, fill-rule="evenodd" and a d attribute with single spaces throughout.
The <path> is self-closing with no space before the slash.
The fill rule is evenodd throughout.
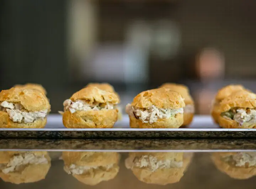
<path id="1" fill-rule="evenodd" d="M 144 91 L 133 99 L 134 108 L 148 108 L 156 106 L 161 109 L 180 109 L 185 107 L 184 99 L 175 91 L 166 88 Z"/>

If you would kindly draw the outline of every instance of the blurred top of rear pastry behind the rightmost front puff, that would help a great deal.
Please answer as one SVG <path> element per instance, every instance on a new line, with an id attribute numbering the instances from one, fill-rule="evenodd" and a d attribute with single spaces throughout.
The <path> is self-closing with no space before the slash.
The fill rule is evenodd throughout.
<path id="1" fill-rule="evenodd" d="M 218 93 L 216 94 L 215 100 L 221 101 L 227 98 L 232 93 L 241 91 L 241 90 L 245 90 L 245 88 L 242 85 L 228 85 L 218 91 Z"/>

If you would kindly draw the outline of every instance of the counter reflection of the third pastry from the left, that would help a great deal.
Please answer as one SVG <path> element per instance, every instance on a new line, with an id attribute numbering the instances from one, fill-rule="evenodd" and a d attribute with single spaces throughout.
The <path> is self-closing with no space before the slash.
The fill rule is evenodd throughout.
<path id="1" fill-rule="evenodd" d="M 166 185 L 180 181 L 191 158 L 183 152 L 131 152 L 125 164 L 140 181 Z"/>

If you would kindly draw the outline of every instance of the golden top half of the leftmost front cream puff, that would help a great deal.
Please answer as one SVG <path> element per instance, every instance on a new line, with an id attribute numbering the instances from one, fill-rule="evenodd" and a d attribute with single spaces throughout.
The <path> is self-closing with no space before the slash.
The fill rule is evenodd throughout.
<path id="1" fill-rule="evenodd" d="M 39 90 L 27 88 L 11 88 L 0 92 L 0 102 L 21 104 L 27 111 L 50 111 L 50 104 L 46 96 Z M 13 105 L 12 105 L 13 106 Z M 8 108 L 8 106 L 7 106 Z"/>

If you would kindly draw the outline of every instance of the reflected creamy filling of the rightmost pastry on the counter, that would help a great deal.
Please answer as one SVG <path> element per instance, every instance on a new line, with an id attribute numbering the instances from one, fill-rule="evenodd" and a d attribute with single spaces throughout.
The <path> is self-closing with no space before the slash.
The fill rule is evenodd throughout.
<path id="1" fill-rule="evenodd" d="M 235 155 L 225 157 L 225 161 L 234 163 L 238 167 L 256 166 L 256 152 L 238 152 Z"/>

